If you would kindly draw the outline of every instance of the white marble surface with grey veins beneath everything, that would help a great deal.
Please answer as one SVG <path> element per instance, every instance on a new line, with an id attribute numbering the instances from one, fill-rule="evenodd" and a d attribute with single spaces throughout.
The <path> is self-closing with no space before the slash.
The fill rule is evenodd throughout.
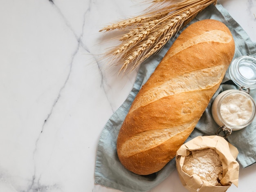
<path id="1" fill-rule="evenodd" d="M 220 0 L 256 42 L 256 1 Z M 0 1 L 0 192 L 117 192 L 94 185 L 97 142 L 124 102 L 136 71 L 117 77 L 98 54 L 99 33 L 134 16 L 132 0 Z M 239 187 L 255 191 L 256 165 Z M 174 171 L 152 192 L 185 192 Z"/>

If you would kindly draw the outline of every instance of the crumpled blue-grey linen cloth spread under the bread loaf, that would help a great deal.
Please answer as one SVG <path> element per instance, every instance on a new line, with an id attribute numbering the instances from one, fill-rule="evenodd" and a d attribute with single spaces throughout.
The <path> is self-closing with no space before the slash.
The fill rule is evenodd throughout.
<path id="1" fill-rule="evenodd" d="M 238 25 L 238 23 L 229 15 L 221 4 L 217 3 L 216 6 L 211 5 L 204 9 L 198 16 L 192 20 L 189 25 L 198 20 L 215 19 L 223 22 L 229 27 L 234 36 L 236 51 L 234 58 L 241 55 L 256 56 L 255 45 L 250 40 L 245 31 Z M 183 29 L 184 30 L 184 29 Z M 179 34 L 181 31 L 177 34 Z M 177 37 L 176 36 L 176 37 Z M 109 188 L 114 188 L 126 192 L 146 192 L 151 190 L 156 185 L 161 183 L 166 177 L 175 169 L 175 158 L 172 159 L 162 170 L 157 173 L 140 176 L 126 170 L 119 162 L 116 151 L 116 141 L 119 129 L 128 113 L 130 105 L 139 92 L 141 86 L 148 80 L 150 75 L 155 70 L 155 67 L 162 60 L 167 50 L 171 47 L 173 41 L 168 42 L 165 47 L 156 56 L 150 57 L 144 62 L 138 71 L 134 87 L 130 92 L 128 98 L 117 109 L 117 111 L 110 117 L 106 126 L 103 128 L 99 138 L 99 144 L 96 156 L 95 165 L 95 183 L 104 185 Z M 205 110 L 202 118 L 196 125 L 194 131 L 189 136 L 187 141 L 199 135 L 214 135 L 218 129 L 218 125 L 214 122 L 211 116 L 211 104 L 214 98 L 226 89 L 238 89 L 230 81 L 228 74 L 220 85 L 220 88 L 214 94 L 211 102 Z M 256 90 L 251 90 L 251 96 L 256 100 Z M 247 167 L 256 162 L 256 120 L 248 127 L 239 131 L 234 131 L 229 137 L 228 141 L 236 146 L 239 150 L 237 161 L 241 167 Z"/>

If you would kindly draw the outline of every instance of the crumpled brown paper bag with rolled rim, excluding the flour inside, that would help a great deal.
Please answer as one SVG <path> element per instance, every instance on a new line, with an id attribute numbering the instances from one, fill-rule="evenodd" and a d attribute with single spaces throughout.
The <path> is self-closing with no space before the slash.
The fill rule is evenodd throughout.
<path id="1" fill-rule="evenodd" d="M 208 181 L 202 181 L 200 176 L 193 174 L 189 176 L 183 170 L 185 156 L 193 150 L 211 148 L 216 150 L 222 161 L 223 178 L 220 180 L 222 186 L 215 186 Z M 184 143 L 176 154 L 176 167 L 182 185 L 190 192 L 225 192 L 232 183 L 238 187 L 239 164 L 236 161 L 238 150 L 220 136 L 198 136 Z"/>

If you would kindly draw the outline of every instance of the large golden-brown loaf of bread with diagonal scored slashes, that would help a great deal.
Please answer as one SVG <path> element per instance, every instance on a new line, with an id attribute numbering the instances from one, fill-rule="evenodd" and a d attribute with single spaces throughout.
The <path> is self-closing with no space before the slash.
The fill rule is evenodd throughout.
<path id="1" fill-rule="evenodd" d="M 191 24 L 141 87 L 117 138 L 126 169 L 161 170 L 198 123 L 234 56 L 229 29 L 217 20 Z"/>

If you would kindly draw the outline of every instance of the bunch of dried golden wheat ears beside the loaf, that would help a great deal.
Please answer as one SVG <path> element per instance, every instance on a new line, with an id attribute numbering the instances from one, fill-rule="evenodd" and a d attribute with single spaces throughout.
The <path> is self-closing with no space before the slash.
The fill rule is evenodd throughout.
<path id="1" fill-rule="evenodd" d="M 105 53 L 111 66 L 119 72 L 134 70 L 151 55 L 157 53 L 175 34 L 195 16 L 217 0 L 151 0 L 152 4 L 140 16 L 120 20 L 100 31 L 128 31 L 121 36 L 121 44 Z"/>

